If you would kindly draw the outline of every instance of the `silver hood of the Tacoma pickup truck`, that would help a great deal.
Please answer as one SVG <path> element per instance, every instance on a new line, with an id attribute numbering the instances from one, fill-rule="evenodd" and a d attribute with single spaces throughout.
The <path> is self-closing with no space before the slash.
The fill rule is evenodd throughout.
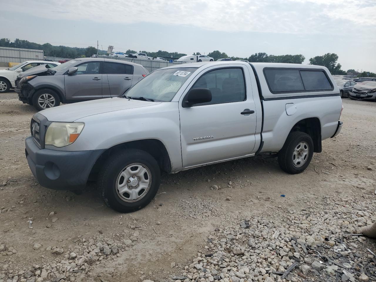
<path id="1" fill-rule="evenodd" d="M 39 113 L 44 115 L 49 121 L 73 122 L 89 115 L 142 108 L 158 104 L 160 104 L 160 102 L 129 100 L 126 98 L 114 97 L 62 105 L 56 108 L 43 110 Z"/>

